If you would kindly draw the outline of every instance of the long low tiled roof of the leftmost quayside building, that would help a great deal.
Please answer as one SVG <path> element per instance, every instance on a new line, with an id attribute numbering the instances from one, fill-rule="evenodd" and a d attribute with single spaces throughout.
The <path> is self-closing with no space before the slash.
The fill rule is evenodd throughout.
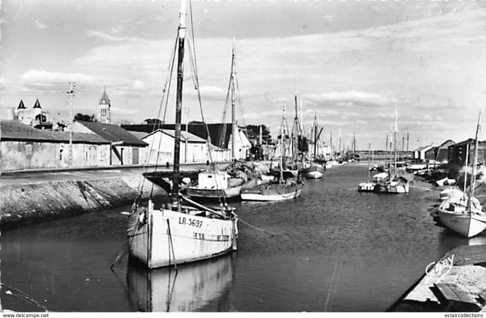
<path id="1" fill-rule="evenodd" d="M 2 141 L 35 141 L 69 143 L 69 132 L 35 129 L 16 120 L 1 120 Z M 109 144 L 110 142 L 95 134 L 72 133 L 73 143 Z"/>

